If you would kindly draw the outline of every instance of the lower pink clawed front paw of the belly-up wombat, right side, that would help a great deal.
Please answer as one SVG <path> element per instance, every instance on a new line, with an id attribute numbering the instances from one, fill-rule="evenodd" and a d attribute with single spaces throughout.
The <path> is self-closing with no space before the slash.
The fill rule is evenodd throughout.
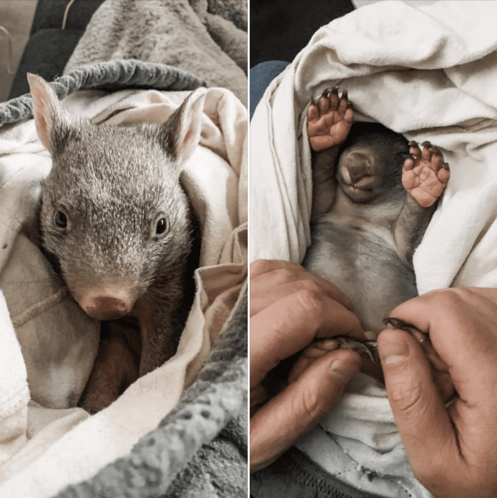
<path id="1" fill-rule="evenodd" d="M 422 151 L 414 140 L 409 145 L 402 185 L 420 206 L 428 208 L 442 195 L 449 181 L 449 165 L 444 162 L 442 151 L 430 142 L 423 142 Z"/>

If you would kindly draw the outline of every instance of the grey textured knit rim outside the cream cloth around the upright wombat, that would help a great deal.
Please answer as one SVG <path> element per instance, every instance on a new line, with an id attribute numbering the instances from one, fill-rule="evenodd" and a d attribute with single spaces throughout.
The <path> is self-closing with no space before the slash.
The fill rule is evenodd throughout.
<path id="1" fill-rule="evenodd" d="M 202 80 L 177 68 L 113 60 L 51 83 L 59 98 L 79 89 L 193 90 Z M 29 95 L 0 104 L 0 125 L 31 117 Z M 178 406 L 126 458 L 58 497 L 247 496 L 247 292 Z"/>

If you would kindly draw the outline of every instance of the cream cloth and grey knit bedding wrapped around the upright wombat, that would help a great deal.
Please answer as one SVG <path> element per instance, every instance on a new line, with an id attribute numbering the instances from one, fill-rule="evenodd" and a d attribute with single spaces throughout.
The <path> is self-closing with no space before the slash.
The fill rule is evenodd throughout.
<path id="1" fill-rule="evenodd" d="M 130 125 L 164 121 L 201 84 L 177 68 L 127 60 L 76 69 L 53 88 L 59 96 L 86 88 L 63 104 L 77 116 Z M 91 417 L 72 406 L 99 324 L 81 314 L 37 247 L 50 157 L 25 121 L 30 99 L 0 105 L 0 496 L 209 496 L 213 486 L 246 495 L 247 111 L 229 90 L 206 92 L 200 144 L 182 178 L 202 249 L 178 351 Z M 207 466 L 195 463 L 203 444 Z M 189 478 L 174 481 L 178 472 Z"/>

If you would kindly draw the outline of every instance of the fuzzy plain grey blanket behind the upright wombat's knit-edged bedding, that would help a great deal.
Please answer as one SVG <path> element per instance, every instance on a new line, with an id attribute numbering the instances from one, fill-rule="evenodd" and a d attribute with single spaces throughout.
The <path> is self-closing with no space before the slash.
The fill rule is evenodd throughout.
<path id="1" fill-rule="evenodd" d="M 106 0 L 64 74 L 111 59 L 168 64 L 247 106 L 247 53 L 247 0 Z"/>

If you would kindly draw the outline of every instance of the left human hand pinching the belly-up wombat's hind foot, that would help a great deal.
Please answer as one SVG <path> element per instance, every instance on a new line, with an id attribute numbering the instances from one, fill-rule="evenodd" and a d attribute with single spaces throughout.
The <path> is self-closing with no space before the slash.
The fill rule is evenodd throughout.
<path id="1" fill-rule="evenodd" d="M 299 361 L 299 372 L 269 401 L 262 385 L 280 361 L 316 338 L 349 334 L 364 339 L 351 307 L 337 287 L 298 264 L 258 260 L 250 265 L 251 472 L 272 463 L 314 427 L 361 368 L 355 351 L 324 351 L 305 365 Z"/>

